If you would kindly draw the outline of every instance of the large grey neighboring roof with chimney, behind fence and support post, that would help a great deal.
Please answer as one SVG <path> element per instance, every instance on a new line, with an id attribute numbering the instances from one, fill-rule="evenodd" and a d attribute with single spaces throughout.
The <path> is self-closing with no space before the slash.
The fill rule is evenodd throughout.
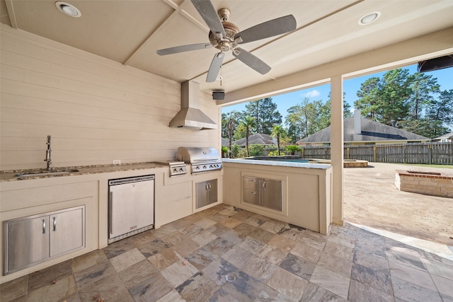
<path id="1" fill-rule="evenodd" d="M 395 127 L 391 127 L 380 122 L 374 122 L 361 118 L 361 134 L 354 134 L 354 117 L 347 117 L 343 121 L 344 142 L 357 141 L 430 141 L 428 137 L 407 132 Z M 304 139 L 297 141 L 301 143 L 328 143 L 331 141 L 331 126 L 322 129 L 319 132 L 309 135 Z"/>

